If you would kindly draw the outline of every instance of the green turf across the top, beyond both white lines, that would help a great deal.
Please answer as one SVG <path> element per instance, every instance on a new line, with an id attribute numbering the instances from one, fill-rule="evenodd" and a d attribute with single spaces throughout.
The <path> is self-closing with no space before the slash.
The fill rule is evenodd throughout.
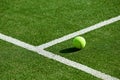
<path id="1" fill-rule="evenodd" d="M 0 0 L 0 32 L 40 45 L 120 14 L 119 0 Z"/>

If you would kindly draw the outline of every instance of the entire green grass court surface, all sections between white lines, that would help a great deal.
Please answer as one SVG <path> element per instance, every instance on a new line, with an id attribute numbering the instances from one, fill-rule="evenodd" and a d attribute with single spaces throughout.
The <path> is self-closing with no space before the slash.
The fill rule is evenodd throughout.
<path id="1" fill-rule="evenodd" d="M 0 0 L 0 33 L 34 46 L 120 15 L 119 0 Z M 45 50 L 120 79 L 120 21 Z M 100 80 L 0 40 L 0 80 Z"/>

